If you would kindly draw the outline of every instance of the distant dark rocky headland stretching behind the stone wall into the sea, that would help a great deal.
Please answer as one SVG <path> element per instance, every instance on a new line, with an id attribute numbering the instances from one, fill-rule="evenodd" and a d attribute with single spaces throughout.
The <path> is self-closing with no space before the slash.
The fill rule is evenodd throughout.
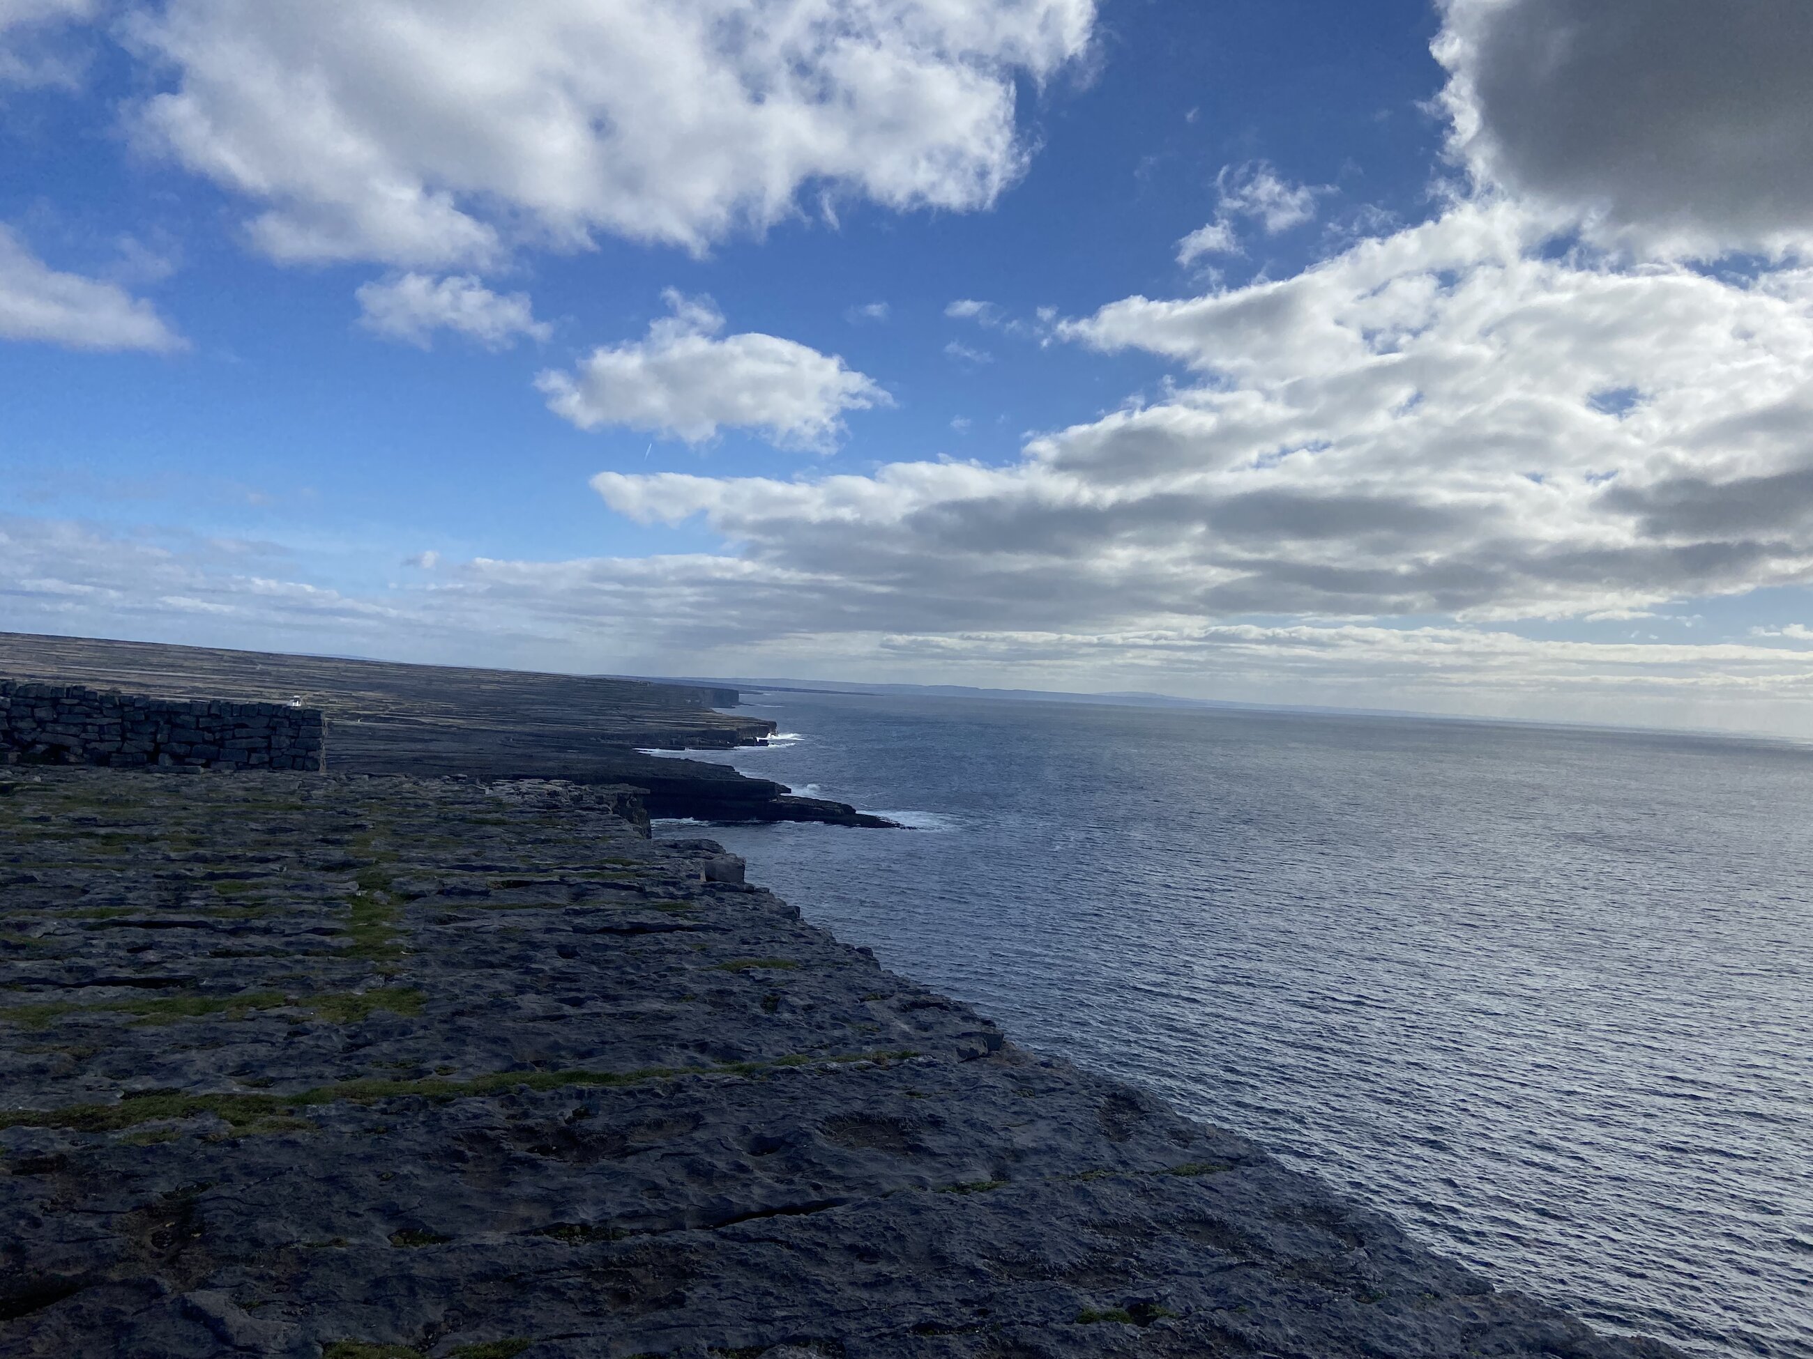
<path id="1" fill-rule="evenodd" d="M 326 714 L 328 768 L 346 774 L 629 783 L 656 817 L 894 824 L 723 765 L 638 750 L 729 750 L 772 736 L 765 718 L 713 712 L 736 705 L 734 689 L 27 632 L 0 632 L 0 676 L 181 699 L 301 698 Z"/>

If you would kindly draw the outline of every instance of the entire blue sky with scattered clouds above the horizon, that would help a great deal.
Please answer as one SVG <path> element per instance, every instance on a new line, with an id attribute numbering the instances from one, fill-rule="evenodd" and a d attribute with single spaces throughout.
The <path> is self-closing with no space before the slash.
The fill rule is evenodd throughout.
<path id="1" fill-rule="evenodd" d="M 1813 736 L 1802 0 L 0 0 L 0 629 Z"/>

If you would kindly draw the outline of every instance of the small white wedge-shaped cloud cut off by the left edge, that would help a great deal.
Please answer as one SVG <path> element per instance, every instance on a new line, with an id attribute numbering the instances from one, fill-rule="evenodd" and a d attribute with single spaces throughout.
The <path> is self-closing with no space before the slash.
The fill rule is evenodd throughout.
<path id="1" fill-rule="evenodd" d="M 185 348 L 150 303 L 112 283 L 53 270 L 7 226 L 0 226 L 0 339 L 71 350 Z"/>

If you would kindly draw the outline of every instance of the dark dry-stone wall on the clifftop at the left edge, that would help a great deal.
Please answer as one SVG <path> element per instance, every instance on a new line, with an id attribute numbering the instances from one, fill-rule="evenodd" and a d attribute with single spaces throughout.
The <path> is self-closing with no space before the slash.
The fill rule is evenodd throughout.
<path id="1" fill-rule="evenodd" d="M 0 680 L 0 763 L 326 768 L 319 708 Z"/>

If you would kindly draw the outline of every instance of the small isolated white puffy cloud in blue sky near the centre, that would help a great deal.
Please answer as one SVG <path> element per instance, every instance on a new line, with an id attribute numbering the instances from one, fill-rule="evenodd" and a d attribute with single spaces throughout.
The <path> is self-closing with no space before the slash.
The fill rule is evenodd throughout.
<path id="1" fill-rule="evenodd" d="M 711 299 L 664 295 L 673 315 L 647 339 L 593 350 L 575 373 L 542 373 L 548 408 L 580 429 L 620 424 L 700 444 L 731 426 L 778 448 L 830 451 L 845 411 L 894 404 L 836 355 L 778 335 L 718 339 Z"/>

